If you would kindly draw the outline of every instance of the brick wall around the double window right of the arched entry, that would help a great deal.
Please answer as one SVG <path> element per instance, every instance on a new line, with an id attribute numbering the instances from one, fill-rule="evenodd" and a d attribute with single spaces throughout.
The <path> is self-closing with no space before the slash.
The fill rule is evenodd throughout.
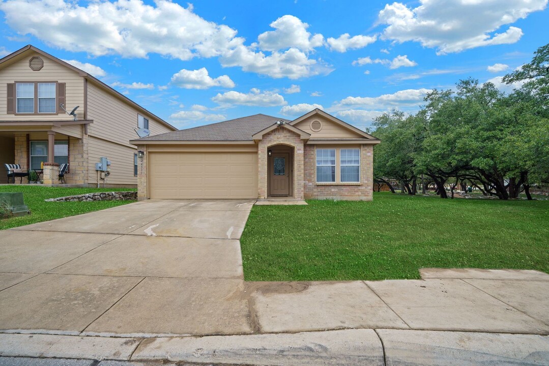
<path id="1" fill-rule="evenodd" d="M 305 199 L 334 199 L 371 201 L 373 192 L 373 145 L 361 145 L 360 183 L 316 183 L 316 148 L 305 145 Z M 339 148 L 339 147 L 338 147 Z M 341 145 L 340 148 L 345 148 Z M 336 172 L 339 174 L 339 172 Z"/>

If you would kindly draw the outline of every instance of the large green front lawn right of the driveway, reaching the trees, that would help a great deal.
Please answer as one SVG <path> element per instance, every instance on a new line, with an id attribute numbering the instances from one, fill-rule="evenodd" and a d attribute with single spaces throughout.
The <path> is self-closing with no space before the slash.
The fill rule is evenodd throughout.
<path id="1" fill-rule="evenodd" d="M 422 267 L 549 273 L 547 200 L 307 202 L 254 206 L 240 240 L 246 280 L 408 279 Z"/>

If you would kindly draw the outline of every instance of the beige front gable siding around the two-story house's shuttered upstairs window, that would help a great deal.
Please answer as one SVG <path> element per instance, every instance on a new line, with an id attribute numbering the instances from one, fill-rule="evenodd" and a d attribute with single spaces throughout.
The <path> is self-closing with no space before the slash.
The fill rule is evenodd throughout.
<path id="1" fill-rule="evenodd" d="M 44 67 L 40 71 L 32 71 L 29 67 L 29 59 L 33 56 L 39 56 L 44 61 Z M 16 61 L 12 65 L 0 70 L 0 120 L 72 120 L 72 116 L 65 113 L 54 115 L 47 114 L 7 114 L 6 99 L 7 99 L 7 84 L 15 81 L 57 81 L 64 82 L 65 90 L 65 105 L 66 108 L 72 109 L 77 105 L 80 108 L 76 111 L 77 117 L 83 119 L 84 116 L 84 79 L 76 71 L 63 66 L 56 61 L 53 61 L 38 53 L 31 52 L 23 59 Z M 58 101 L 55 101 L 58 104 Z"/>

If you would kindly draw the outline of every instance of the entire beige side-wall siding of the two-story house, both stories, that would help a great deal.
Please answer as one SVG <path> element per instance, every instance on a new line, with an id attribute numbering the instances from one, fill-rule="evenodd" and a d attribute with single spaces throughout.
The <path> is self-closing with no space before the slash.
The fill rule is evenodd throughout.
<path id="1" fill-rule="evenodd" d="M 137 128 L 138 114 L 149 119 L 151 135 L 172 129 L 93 82 L 88 82 L 87 106 L 87 118 L 93 120 L 88 126 L 87 182 L 97 184 L 95 164 L 100 157 L 106 156 L 111 161 L 107 184 L 136 185 L 133 154 L 137 153 L 137 148 L 130 145 L 129 140 L 137 138 L 133 128 Z"/>

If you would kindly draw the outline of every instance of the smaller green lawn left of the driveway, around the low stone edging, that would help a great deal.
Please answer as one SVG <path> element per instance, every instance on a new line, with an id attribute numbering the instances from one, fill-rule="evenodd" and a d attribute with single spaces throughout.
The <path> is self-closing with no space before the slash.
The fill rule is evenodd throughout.
<path id="1" fill-rule="evenodd" d="M 40 187 L 37 185 L 0 185 L 0 192 L 23 192 L 25 204 L 31 215 L 0 219 L 0 229 L 33 224 L 55 218 L 80 215 L 90 211 L 108 209 L 133 201 L 91 201 L 91 202 L 44 202 L 47 198 L 71 196 L 92 192 L 113 192 L 136 190 L 135 188 L 62 188 Z"/>

